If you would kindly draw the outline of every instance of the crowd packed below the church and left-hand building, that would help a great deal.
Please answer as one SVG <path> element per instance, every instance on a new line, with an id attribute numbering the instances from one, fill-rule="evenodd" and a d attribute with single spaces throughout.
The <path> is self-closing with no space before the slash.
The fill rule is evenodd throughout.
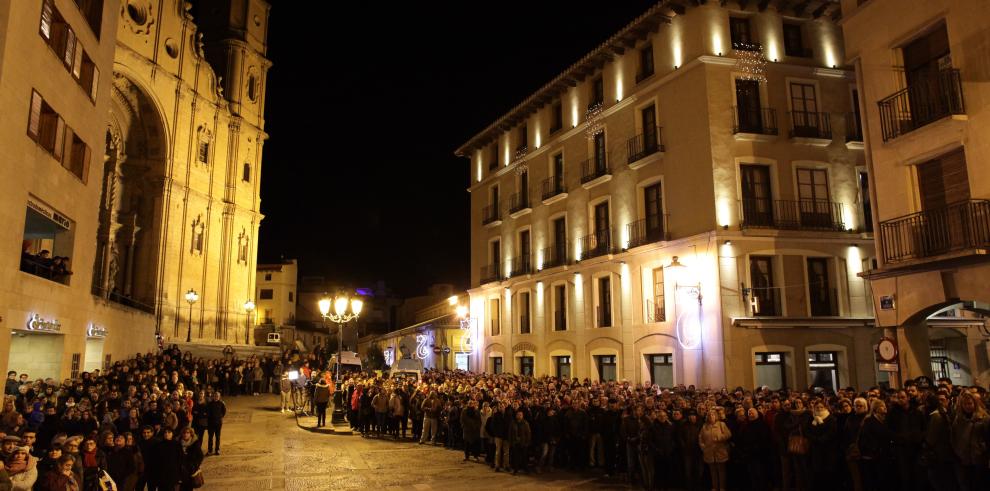
<path id="1" fill-rule="evenodd" d="M 188 490 L 220 454 L 224 396 L 277 391 L 277 357 L 205 360 L 178 348 L 77 379 L 8 372 L 0 490 Z M 204 449 L 204 440 L 206 446 Z"/>

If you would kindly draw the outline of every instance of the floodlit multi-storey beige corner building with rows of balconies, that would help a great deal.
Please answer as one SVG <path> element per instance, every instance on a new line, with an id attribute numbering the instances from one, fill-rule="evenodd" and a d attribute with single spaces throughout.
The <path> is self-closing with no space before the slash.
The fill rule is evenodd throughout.
<path id="1" fill-rule="evenodd" d="M 882 381 L 839 17 L 830 1 L 659 2 L 459 148 L 472 366 Z"/>

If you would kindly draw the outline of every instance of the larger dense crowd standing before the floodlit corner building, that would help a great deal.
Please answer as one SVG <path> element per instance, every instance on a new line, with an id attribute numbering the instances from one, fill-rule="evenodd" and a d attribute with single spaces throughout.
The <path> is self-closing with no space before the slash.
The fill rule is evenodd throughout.
<path id="1" fill-rule="evenodd" d="M 342 387 L 363 436 L 462 450 L 496 472 L 598 468 L 651 490 L 990 489 L 986 391 L 948 379 L 834 393 L 427 371 Z"/>

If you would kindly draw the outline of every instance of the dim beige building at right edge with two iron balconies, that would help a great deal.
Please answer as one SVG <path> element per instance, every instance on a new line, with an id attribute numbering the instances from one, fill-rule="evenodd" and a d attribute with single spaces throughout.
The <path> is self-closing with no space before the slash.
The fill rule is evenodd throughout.
<path id="1" fill-rule="evenodd" d="M 990 382 L 990 5 L 843 0 L 872 176 L 877 323 L 900 379 Z M 882 25 L 882 29 L 877 26 Z"/>

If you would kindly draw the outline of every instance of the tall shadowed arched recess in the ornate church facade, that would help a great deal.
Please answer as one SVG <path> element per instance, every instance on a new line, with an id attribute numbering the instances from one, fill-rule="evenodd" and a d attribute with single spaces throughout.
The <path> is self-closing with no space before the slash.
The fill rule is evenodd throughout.
<path id="1" fill-rule="evenodd" d="M 155 312 L 167 134 L 158 106 L 115 72 L 100 200 L 93 292 Z"/>

